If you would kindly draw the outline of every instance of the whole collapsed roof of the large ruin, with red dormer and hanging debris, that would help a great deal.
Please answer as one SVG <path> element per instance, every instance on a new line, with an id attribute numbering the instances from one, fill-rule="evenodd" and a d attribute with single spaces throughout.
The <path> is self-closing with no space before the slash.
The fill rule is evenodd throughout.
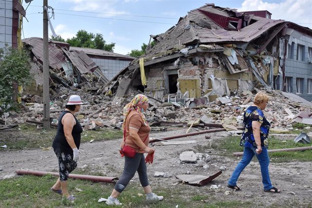
<path id="1" fill-rule="evenodd" d="M 176 62 L 181 62 L 180 57 L 186 57 L 187 61 L 192 62 L 190 57 L 197 55 L 204 56 L 206 62 L 215 58 L 216 62 L 219 62 L 215 68 L 227 69 L 231 75 L 244 71 L 252 72 L 253 79 L 260 85 L 272 88 L 273 67 L 275 67 L 274 76 L 279 73 L 277 60 L 279 52 L 278 50 L 268 52 L 267 48 L 273 48 L 273 42 L 276 43 L 278 38 L 285 36 L 287 28 L 294 28 L 310 36 L 312 30 L 289 21 L 270 18 L 271 13 L 268 11 L 237 12 L 236 9 L 212 4 L 191 10 L 187 16 L 178 20 L 176 26 L 165 33 L 151 35 L 156 45 L 115 76 L 107 84 L 106 90 L 116 89 L 119 82 L 126 81 L 126 85 L 123 83 L 122 86 L 118 86 L 118 89 L 122 88 L 122 91 L 126 92 L 125 88 L 131 86 L 129 79 L 135 79 L 140 75 L 139 59 L 143 58 L 144 67 L 148 68 L 156 67 L 159 63 L 176 67 Z M 214 53 L 216 56 L 207 55 L 208 53 Z M 234 60 L 230 60 L 231 56 Z M 198 59 L 198 56 L 196 58 Z M 267 67 L 267 63 L 262 63 L 261 59 L 266 59 L 270 66 Z M 201 79 L 203 82 L 204 78 Z M 108 86 L 109 84 L 111 85 Z"/>

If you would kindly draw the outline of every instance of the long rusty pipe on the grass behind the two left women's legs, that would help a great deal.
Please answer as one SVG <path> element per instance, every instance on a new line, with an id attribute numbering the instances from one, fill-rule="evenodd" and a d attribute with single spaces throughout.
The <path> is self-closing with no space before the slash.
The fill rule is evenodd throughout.
<path id="1" fill-rule="evenodd" d="M 36 170 L 15 170 L 15 172 L 19 175 L 37 175 L 37 176 L 42 176 L 42 175 L 47 175 L 51 174 L 54 176 L 59 176 L 58 172 L 46 172 L 46 171 L 36 171 Z M 80 180 L 90 180 L 93 182 L 104 182 L 104 183 L 116 183 L 114 180 L 118 179 L 116 177 L 104 177 L 104 176 L 97 176 L 97 175 L 80 175 L 80 174 L 72 174 L 70 173 L 69 178 L 74 178 L 74 179 L 80 179 Z"/>

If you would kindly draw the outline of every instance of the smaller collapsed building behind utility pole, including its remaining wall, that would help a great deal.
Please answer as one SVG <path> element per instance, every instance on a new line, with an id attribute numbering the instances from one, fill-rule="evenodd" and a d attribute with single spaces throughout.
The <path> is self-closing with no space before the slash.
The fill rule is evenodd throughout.
<path id="1" fill-rule="evenodd" d="M 31 74 L 34 82 L 26 88 L 29 94 L 41 95 L 43 85 L 43 39 L 22 39 L 24 48 L 28 49 L 31 58 Z M 70 50 L 65 42 L 49 40 L 49 71 L 50 88 L 59 86 L 69 88 L 81 84 L 93 87 L 95 83 L 105 84 L 109 80 L 104 76 L 98 65 L 81 50 Z M 81 87 L 81 86 L 80 86 Z M 50 93 L 54 91 L 50 91 Z"/>

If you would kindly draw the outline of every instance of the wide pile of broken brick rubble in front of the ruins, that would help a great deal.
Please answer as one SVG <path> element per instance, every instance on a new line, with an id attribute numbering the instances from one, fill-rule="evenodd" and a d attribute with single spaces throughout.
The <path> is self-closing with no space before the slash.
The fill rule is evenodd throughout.
<path id="1" fill-rule="evenodd" d="M 241 127 L 244 110 L 253 104 L 252 100 L 257 91 L 242 91 L 217 97 L 215 101 L 207 101 L 206 104 L 198 102 L 197 98 L 192 98 L 189 99 L 190 101 L 188 100 L 188 105 L 185 104 L 184 106 L 180 102 L 165 102 L 165 98 L 162 101 L 149 98 L 150 106 L 145 115 L 151 126 L 157 122 L 158 124 L 159 122 L 170 122 L 169 126 L 171 127 L 177 126 L 177 124 L 186 125 L 187 123 L 189 126 L 190 123 L 196 126 L 199 122 L 203 122 L 204 117 L 204 122 L 208 124 L 227 124 Z M 309 106 L 310 102 L 306 101 L 304 104 L 301 101 L 295 102 L 293 98 L 291 100 L 290 97 L 274 90 L 267 90 L 266 93 L 270 96 L 270 101 L 265 109 L 265 115 L 271 121 L 272 127 L 290 126 L 294 121 L 293 119 L 298 117 L 296 116 L 298 113 L 305 112 L 305 114 L 310 115 L 312 108 L 311 105 Z M 80 95 L 85 102 L 77 114 L 84 130 L 102 127 L 121 128 L 122 108 L 134 96 L 133 94 L 129 97 L 109 97 L 96 93 L 92 94 L 83 89 L 69 91 L 64 88 L 59 92 L 58 98 L 50 102 L 52 127 L 57 126 L 59 114 L 63 111 L 68 97 L 74 94 Z M 33 98 L 34 96 L 36 97 Z M 25 122 L 40 124 L 43 118 L 43 104 L 36 103 L 36 101 L 41 102 L 42 99 L 37 95 L 33 95 L 33 97 L 29 99 L 29 95 L 25 95 L 22 99 L 24 103 L 20 113 L 10 112 L 9 115 L 6 114 L 6 117 L 2 116 L 1 123 L 6 125 Z"/>

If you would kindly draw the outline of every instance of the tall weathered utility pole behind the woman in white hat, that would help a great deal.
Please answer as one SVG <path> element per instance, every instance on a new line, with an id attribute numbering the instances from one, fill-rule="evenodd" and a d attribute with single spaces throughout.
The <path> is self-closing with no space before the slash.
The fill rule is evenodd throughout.
<path id="1" fill-rule="evenodd" d="M 43 128 L 50 129 L 48 0 L 43 0 Z"/>

